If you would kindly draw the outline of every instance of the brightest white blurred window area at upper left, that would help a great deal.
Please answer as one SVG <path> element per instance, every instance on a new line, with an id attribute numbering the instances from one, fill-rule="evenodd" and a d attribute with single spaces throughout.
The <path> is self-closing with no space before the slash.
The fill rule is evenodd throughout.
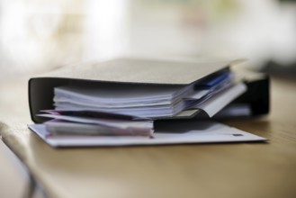
<path id="1" fill-rule="evenodd" d="M 0 0 L 0 77 L 116 56 L 126 1 Z"/>

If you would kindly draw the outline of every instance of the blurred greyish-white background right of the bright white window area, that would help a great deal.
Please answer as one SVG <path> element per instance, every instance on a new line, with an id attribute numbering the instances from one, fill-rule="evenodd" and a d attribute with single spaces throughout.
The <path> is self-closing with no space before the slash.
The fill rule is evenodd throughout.
<path id="1" fill-rule="evenodd" d="M 296 64 L 296 2 L 130 0 L 130 51 Z"/>

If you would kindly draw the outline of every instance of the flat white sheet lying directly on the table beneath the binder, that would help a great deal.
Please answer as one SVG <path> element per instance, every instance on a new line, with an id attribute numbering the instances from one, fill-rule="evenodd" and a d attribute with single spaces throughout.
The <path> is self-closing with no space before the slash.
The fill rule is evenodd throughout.
<path id="1" fill-rule="evenodd" d="M 156 130 L 153 139 L 139 136 L 52 136 L 44 124 L 31 124 L 29 128 L 52 147 L 118 147 L 266 140 L 214 121 L 167 122 Z"/>

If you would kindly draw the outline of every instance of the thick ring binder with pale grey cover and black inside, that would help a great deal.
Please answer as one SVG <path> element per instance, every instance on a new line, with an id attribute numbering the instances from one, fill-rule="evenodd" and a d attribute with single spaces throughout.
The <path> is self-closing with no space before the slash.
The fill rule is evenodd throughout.
<path id="1" fill-rule="evenodd" d="M 138 85 L 147 86 L 188 86 L 201 82 L 207 76 L 223 70 L 229 70 L 236 61 L 193 61 L 159 60 L 143 58 L 118 58 L 101 63 L 62 67 L 43 76 L 32 77 L 29 81 L 29 104 L 31 120 L 36 123 L 47 121 L 37 116 L 41 110 L 53 109 L 54 88 L 62 85 Z M 244 76 L 244 75 L 243 75 Z M 269 78 L 264 75 L 244 76 L 247 92 L 230 103 L 245 105 L 247 116 L 269 112 Z M 224 118 L 233 116 L 228 111 Z M 193 119 L 204 117 L 199 108 L 184 111 L 174 117 L 162 117 L 157 120 Z"/>

